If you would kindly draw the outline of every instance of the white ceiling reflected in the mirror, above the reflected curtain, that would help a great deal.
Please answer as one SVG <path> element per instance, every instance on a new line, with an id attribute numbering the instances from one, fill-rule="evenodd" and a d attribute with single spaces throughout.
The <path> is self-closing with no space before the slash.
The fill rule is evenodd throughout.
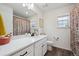
<path id="1" fill-rule="evenodd" d="M 28 10 L 26 7 L 23 7 L 23 3 L 6 3 L 9 7 L 13 8 L 14 15 L 18 15 L 21 17 L 30 17 L 33 16 L 35 13 L 32 10 Z M 28 11 L 28 14 L 26 14 Z"/>

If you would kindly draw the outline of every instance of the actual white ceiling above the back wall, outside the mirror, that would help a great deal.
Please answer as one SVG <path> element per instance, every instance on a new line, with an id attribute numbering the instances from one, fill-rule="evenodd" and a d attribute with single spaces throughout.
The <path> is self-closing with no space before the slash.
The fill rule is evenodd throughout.
<path id="1" fill-rule="evenodd" d="M 42 11 L 42 12 L 48 12 L 51 9 L 57 9 L 61 8 L 64 6 L 69 6 L 73 5 L 72 3 L 37 3 L 37 7 Z"/>

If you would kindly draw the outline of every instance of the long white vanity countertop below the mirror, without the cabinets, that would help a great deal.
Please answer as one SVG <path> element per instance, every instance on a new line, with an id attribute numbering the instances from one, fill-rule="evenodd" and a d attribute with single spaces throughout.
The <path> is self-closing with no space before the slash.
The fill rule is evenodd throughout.
<path id="1" fill-rule="evenodd" d="M 22 37 L 19 39 L 12 38 L 10 43 L 0 46 L 0 56 L 10 55 L 24 47 L 27 47 L 27 46 L 41 40 L 44 37 L 46 37 L 46 35 L 39 35 L 39 36 L 34 36 L 34 37 Z"/>

